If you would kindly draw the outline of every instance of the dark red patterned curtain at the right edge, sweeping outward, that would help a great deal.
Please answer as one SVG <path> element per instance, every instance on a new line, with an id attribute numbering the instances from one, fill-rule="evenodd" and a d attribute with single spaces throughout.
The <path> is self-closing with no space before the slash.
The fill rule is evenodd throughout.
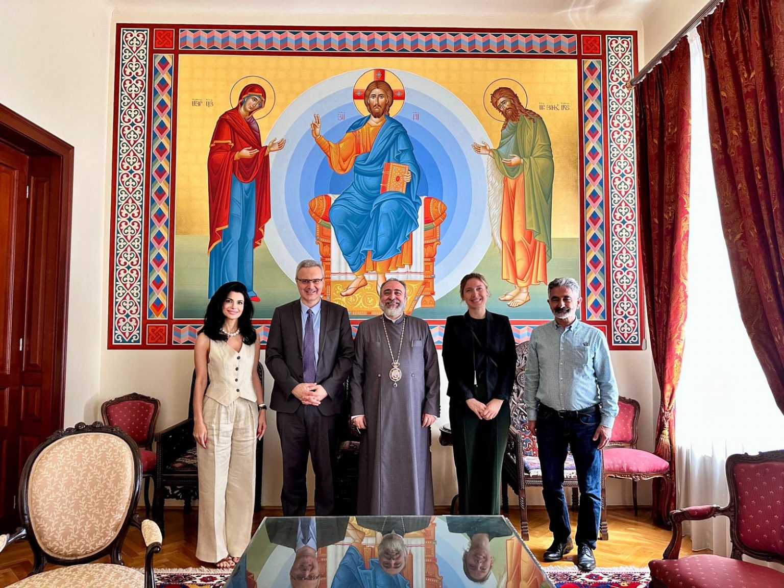
<path id="1" fill-rule="evenodd" d="M 727 0 L 698 31 L 735 293 L 784 412 L 784 7 L 779 0 Z"/>

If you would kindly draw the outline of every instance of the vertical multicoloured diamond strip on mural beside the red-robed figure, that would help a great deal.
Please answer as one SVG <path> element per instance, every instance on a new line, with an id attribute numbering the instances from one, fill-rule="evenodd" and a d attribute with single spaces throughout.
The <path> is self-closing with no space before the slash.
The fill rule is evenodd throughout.
<path id="1" fill-rule="evenodd" d="M 169 299 L 169 179 L 174 56 L 153 55 L 147 318 L 166 318 Z"/>

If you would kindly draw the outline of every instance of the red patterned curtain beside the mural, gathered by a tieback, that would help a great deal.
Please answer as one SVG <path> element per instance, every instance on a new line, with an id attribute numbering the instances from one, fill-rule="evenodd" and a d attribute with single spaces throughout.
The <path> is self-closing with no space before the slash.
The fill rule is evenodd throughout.
<path id="1" fill-rule="evenodd" d="M 691 75 L 688 39 L 637 85 L 637 173 L 645 299 L 656 376 L 662 391 L 657 456 L 672 485 L 654 485 L 653 512 L 669 524 L 675 508 L 675 390 L 681 376 L 688 277 Z"/>

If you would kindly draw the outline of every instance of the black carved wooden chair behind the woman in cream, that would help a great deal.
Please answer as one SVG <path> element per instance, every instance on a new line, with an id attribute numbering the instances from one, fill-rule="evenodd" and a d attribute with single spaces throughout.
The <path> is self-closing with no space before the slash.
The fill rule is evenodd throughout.
<path id="1" fill-rule="evenodd" d="M 256 372 L 264 387 L 264 370 L 261 363 Z M 198 499 L 198 466 L 196 440 L 194 439 L 194 387 L 196 370 L 191 376 L 191 397 L 188 400 L 188 418 L 155 434 L 156 468 L 154 519 L 162 531 L 163 505 L 167 498 L 183 500 L 183 510 L 191 510 L 191 501 Z M 207 381 L 209 386 L 209 380 Z M 253 510 L 261 510 L 261 468 L 263 465 L 264 439 L 256 441 L 256 495 Z"/>

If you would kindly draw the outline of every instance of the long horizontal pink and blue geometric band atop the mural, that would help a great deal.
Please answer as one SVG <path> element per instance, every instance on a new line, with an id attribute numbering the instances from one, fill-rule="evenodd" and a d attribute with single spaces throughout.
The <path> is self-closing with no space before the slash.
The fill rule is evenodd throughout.
<path id="1" fill-rule="evenodd" d="M 181 29 L 180 49 L 576 55 L 576 34 Z"/>

